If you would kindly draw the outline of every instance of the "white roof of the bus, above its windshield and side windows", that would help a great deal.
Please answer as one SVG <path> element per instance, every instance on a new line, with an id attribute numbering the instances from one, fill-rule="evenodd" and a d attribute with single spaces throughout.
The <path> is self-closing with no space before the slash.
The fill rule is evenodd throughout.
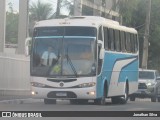
<path id="1" fill-rule="evenodd" d="M 64 19 L 44 20 L 37 22 L 35 27 L 88 26 L 98 28 L 101 25 L 106 26 L 108 28 L 137 34 L 137 31 L 134 28 L 122 26 L 119 24 L 119 22 L 98 16 L 75 16 Z"/>

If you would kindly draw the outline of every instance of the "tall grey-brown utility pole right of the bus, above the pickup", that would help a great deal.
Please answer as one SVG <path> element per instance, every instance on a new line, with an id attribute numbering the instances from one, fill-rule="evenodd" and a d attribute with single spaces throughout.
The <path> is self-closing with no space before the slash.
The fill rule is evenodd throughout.
<path id="1" fill-rule="evenodd" d="M 147 69 L 147 62 L 148 62 L 148 46 L 149 46 L 148 39 L 149 39 L 150 13 L 151 13 L 151 0 L 148 0 L 144 43 L 143 43 L 143 58 L 142 58 L 143 69 Z"/>

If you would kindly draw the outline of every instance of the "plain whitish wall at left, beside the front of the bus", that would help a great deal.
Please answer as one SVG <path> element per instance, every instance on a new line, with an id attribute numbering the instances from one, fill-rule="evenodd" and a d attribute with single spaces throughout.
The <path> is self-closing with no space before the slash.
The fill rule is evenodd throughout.
<path id="1" fill-rule="evenodd" d="M 29 58 L 0 54 L 0 96 L 30 94 Z"/>

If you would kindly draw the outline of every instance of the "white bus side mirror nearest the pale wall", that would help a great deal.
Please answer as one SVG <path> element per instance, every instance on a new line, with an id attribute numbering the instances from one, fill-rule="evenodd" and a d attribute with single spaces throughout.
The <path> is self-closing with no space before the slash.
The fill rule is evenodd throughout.
<path id="1" fill-rule="evenodd" d="M 25 55 L 29 56 L 31 53 L 31 38 L 26 38 L 25 40 Z"/>

